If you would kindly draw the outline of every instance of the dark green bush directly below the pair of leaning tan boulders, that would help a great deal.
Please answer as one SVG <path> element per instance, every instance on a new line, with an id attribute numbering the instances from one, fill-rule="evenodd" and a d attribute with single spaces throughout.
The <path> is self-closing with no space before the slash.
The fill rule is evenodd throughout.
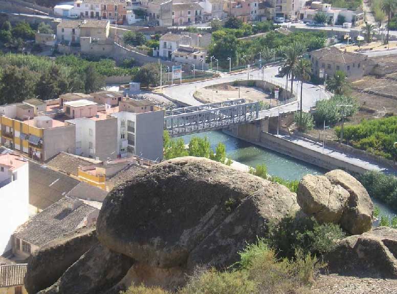
<path id="1" fill-rule="evenodd" d="M 313 217 L 286 216 L 277 225 L 270 226 L 267 239 L 280 256 L 292 258 L 296 250 L 304 255 L 325 255 L 335 249 L 344 236 L 338 225 L 320 225 Z"/>

